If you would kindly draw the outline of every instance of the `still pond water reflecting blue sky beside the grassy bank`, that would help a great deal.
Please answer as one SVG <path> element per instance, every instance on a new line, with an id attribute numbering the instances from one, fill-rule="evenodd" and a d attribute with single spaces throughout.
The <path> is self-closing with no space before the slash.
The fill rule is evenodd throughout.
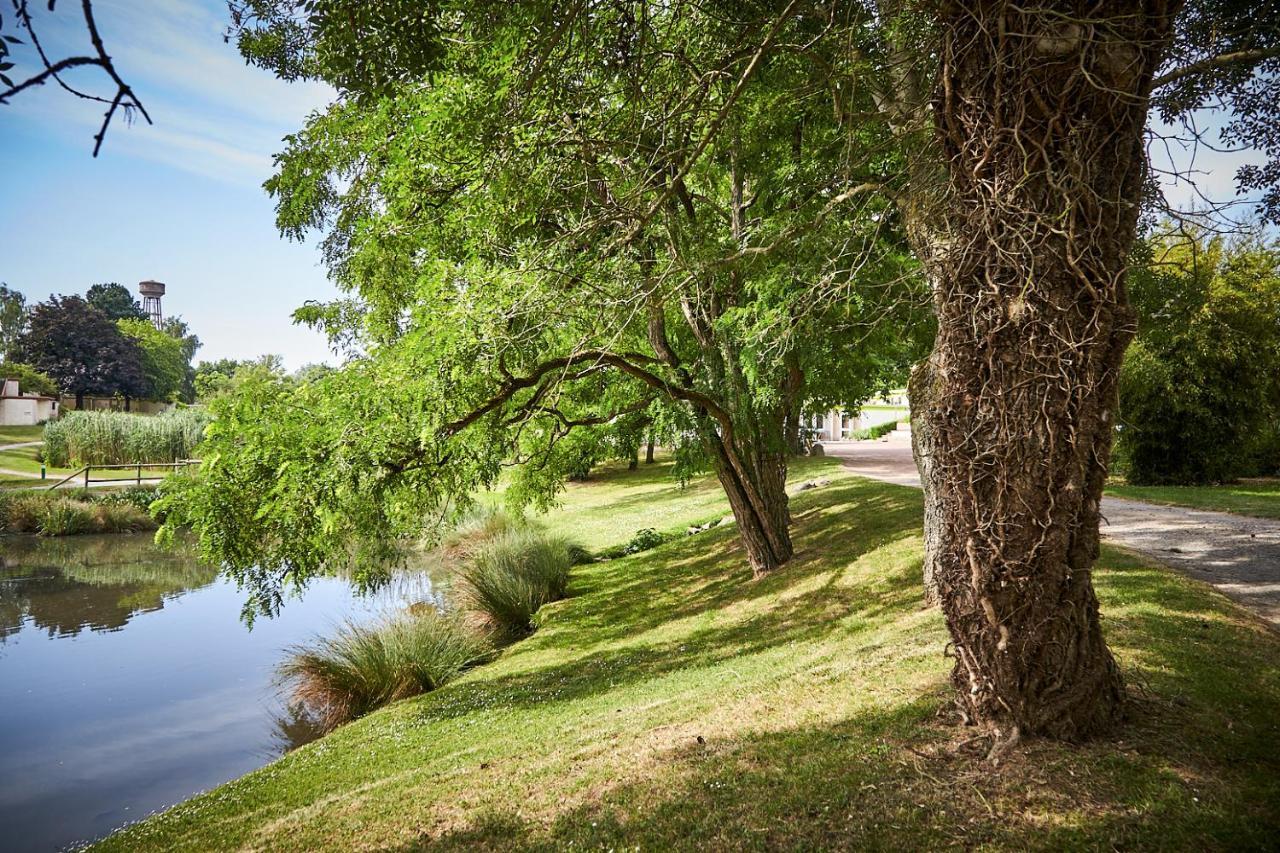
<path id="1" fill-rule="evenodd" d="M 435 596 L 425 571 L 323 579 L 250 630 L 234 583 L 150 535 L 0 537 L 0 850 L 100 838 L 305 743 L 284 651 Z"/>

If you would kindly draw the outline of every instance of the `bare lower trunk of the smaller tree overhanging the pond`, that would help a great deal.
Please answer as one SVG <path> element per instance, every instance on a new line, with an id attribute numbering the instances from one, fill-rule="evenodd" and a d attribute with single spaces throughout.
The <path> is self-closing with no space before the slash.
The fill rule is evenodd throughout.
<path id="1" fill-rule="evenodd" d="M 713 439 L 716 475 L 724 487 L 751 574 L 760 578 L 791 558 L 791 510 L 786 455 L 759 451 L 745 457 Z"/>

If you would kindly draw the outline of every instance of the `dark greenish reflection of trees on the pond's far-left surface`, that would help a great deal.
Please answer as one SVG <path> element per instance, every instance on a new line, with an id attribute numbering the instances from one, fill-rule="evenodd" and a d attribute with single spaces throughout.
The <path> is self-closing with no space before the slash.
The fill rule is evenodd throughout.
<path id="1" fill-rule="evenodd" d="M 0 564 L 0 639 L 29 619 L 50 635 L 116 630 L 134 613 L 214 581 L 218 571 L 150 535 L 6 538 Z"/>

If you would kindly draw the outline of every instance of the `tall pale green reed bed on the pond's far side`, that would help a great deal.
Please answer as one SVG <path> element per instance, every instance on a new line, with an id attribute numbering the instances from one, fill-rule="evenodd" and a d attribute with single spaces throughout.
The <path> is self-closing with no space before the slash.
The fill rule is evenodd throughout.
<path id="1" fill-rule="evenodd" d="M 154 416 L 70 411 L 45 425 L 45 461 L 55 467 L 177 462 L 195 456 L 209 423 L 202 409 Z"/>

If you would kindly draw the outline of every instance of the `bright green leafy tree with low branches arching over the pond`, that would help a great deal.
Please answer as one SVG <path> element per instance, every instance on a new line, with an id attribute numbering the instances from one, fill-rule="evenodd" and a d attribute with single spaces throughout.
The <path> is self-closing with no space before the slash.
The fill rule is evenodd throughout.
<path id="1" fill-rule="evenodd" d="M 754 574 L 785 564 L 788 416 L 833 383 L 873 389 L 915 280 L 869 192 L 891 155 L 847 156 L 883 140 L 851 141 L 812 59 L 780 50 L 822 23 L 458 4 L 404 31 L 396 4 L 307 8 L 248 4 L 241 45 L 342 95 L 268 188 L 348 292 L 301 316 L 360 355 L 223 403 L 172 517 L 257 580 L 303 578 L 509 464 L 509 493 L 547 501 L 576 437 L 658 407 L 719 479 Z"/>

